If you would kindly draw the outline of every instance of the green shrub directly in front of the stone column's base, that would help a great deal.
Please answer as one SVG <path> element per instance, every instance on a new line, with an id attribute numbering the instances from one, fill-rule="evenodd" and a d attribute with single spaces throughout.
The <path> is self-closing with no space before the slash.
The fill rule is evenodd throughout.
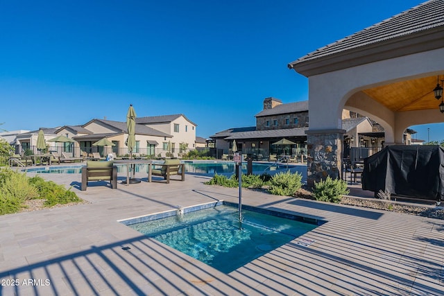
<path id="1" fill-rule="evenodd" d="M 340 179 L 332 179 L 330 176 L 325 181 L 314 182 L 313 195 L 316 200 L 323 202 L 340 202 L 342 195 L 348 194 L 347 182 Z"/>

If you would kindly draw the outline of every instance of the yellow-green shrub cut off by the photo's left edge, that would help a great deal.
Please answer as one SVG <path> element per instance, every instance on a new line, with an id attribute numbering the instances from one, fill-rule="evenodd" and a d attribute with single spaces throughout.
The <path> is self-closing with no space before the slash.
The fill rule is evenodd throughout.
<path id="1" fill-rule="evenodd" d="M 25 173 L 9 169 L 0 172 L 0 214 L 19 211 L 26 200 L 36 198 L 37 189 L 28 182 Z"/>

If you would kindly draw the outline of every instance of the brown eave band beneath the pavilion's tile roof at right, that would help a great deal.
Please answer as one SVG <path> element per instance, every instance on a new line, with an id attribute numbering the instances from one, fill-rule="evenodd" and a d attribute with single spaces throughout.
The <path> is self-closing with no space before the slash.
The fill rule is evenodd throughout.
<path id="1" fill-rule="evenodd" d="M 444 26 L 438 26 L 427 31 L 391 38 L 348 51 L 341 51 L 313 59 L 296 60 L 289 63 L 288 67 L 305 77 L 309 77 L 370 62 L 432 51 L 434 49 L 441 49 L 444 46 L 443 34 Z"/>

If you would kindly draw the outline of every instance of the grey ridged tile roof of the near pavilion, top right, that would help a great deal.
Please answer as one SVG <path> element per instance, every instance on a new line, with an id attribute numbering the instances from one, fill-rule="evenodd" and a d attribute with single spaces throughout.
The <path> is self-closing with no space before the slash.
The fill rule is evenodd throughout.
<path id="1" fill-rule="evenodd" d="M 433 30 L 444 26 L 444 0 L 429 0 L 398 15 L 380 21 L 355 34 L 317 49 L 302 58 L 291 62 L 293 64 L 316 60 L 328 55 L 335 55 L 359 49 L 371 44 L 378 44 L 398 38 L 406 37 L 423 31 Z"/>

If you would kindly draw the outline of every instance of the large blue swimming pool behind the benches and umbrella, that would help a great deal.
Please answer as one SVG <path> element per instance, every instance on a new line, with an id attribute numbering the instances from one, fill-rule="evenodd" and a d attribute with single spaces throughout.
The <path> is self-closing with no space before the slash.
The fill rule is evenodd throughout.
<path id="1" fill-rule="evenodd" d="M 235 164 L 234 162 L 216 162 L 216 161 L 208 161 L 208 162 L 192 162 L 192 161 L 184 161 L 185 163 L 185 172 L 186 173 L 196 173 L 198 175 L 214 175 L 217 174 L 232 174 L 234 173 Z M 153 164 L 162 164 L 162 162 L 153 162 Z M 270 163 L 259 163 L 253 162 L 253 173 L 263 173 L 264 171 L 270 170 Z M 30 173 L 67 173 L 67 174 L 79 174 L 82 171 L 82 166 L 42 166 L 40 168 L 28 168 L 26 171 Z M 282 171 L 287 169 L 300 171 L 301 173 L 305 173 L 307 169 L 302 169 L 302 166 L 287 166 L 286 164 L 278 164 L 277 166 L 273 166 L 273 171 Z M 246 163 L 242 166 L 243 173 L 247 173 L 247 165 Z M 117 164 L 117 172 L 124 173 L 126 172 L 126 166 L 123 164 Z M 148 172 L 148 166 L 146 164 L 137 164 L 135 166 L 135 172 Z"/>

